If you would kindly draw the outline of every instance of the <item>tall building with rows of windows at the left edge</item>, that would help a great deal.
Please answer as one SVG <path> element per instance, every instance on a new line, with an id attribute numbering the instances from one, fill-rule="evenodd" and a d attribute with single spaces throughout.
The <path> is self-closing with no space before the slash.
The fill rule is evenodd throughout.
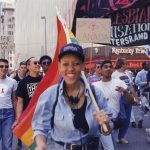
<path id="1" fill-rule="evenodd" d="M 14 4 L 0 3 L 0 57 L 9 61 L 10 69 L 15 66 L 15 8 Z"/>

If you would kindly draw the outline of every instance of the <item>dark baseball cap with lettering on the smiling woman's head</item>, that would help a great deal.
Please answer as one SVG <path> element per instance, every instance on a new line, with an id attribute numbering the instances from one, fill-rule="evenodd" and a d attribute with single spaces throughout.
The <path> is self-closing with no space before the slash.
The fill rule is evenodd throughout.
<path id="1" fill-rule="evenodd" d="M 67 44 L 64 47 L 62 47 L 60 50 L 60 53 L 58 55 L 59 61 L 62 58 L 62 56 L 64 56 L 65 54 L 75 54 L 82 60 L 82 62 L 84 62 L 83 49 L 81 46 L 79 46 L 77 44 L 70 43 L 70 44 Z"/>

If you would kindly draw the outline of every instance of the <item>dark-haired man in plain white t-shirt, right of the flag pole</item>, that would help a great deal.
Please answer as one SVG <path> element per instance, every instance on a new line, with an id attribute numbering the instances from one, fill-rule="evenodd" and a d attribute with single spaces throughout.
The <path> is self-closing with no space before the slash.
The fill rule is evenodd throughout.
<path id="1" fill-rule="evenodd" d="M 108 104 L 112 109 L 112 120 L 118 117 L 120 112 L 120 98 L 122 95 L 128 98 L 128 100 L 133 100 L 131 95 L 127 90 L 127 85 L 120 79 L 113 79 L 111 74 L 113 72 L 112 63 L 109 60 L 103 61 L 101 64 L 101 74 L 102 80 L 95 82 L 94 85 L 99 87 L 104 93 L 108 100 Z M 116 128 L 116 127 L 115 127 Z M 113 142 L 111 135 L 103 136 L 101 135 L 101 142 L 104 149 L 113 150 Z"/>

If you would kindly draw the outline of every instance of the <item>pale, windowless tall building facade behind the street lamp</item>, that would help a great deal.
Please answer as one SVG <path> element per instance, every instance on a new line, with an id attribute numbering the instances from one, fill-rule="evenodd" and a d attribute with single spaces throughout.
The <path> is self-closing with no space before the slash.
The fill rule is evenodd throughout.
<path id="1" fill-rule="evenodd" d="M 53 58 L 57 42 L 56 8 L 70 26 L 75 6 L 76 0 L 17 0 L 15 61 L 39 58 L 45 53 Z"/>

